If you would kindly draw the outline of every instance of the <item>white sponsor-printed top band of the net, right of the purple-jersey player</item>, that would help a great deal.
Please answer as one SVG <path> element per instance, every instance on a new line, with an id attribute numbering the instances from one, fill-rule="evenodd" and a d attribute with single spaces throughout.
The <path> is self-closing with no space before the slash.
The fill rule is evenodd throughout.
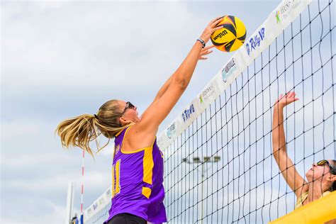
<path id="1" fill-rule="evenodd" d="M 211 82 L 201 91 L 189 106 L 175 119 L 174 127 L 168 127 L 159 140 L 160 147 L 165 150 L 177 136 L 187 128 L 210 103 L 230 86 L 253 60 L 265 50 L 274 39 L 306 9 L 312 0 L 284 0 L 269 14 L 267 20 L 247 38 L 244 45 L 235 52 L 235 55 L 225 63 L 215 74 Z M 219 34 L 224 35 L 225 33 Z M 219 36 L 218 36 L 219 38 Z M 158 143 L 159 144 L 159 143 Z"/>

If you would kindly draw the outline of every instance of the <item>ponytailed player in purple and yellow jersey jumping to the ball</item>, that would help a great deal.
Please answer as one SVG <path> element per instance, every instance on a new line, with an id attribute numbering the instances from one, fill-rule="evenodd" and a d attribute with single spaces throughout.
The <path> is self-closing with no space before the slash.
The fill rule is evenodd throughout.
<path id="1" fill-rule="evenodd" d="M 115 138 L 112 166 L 112 206 L 108 224 L 166 222 L 163 155 L 156 143 L 159 124 L 186 90 L 198 60 L 211 51 L 205 47 L 220 17 L 211 21 L 179 68 L 159 89 L 141 117 L 130 102 L 111 100 L 94 115 L 84 114 L 57 127 L 62 145 L 77 146 L 93 155 L 89 142 L 103 134 Z M 101 150 L 101 149 L 99 149 Z"/>

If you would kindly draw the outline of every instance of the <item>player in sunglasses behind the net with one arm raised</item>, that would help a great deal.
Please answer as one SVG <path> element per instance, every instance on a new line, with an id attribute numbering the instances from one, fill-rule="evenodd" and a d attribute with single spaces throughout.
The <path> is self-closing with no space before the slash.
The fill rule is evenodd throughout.
<path id="1" fill-rule="evenodd" d="M 306 172 L 308 182 L 296 171 L 295 165 L 286 152 L 284 133 L 285 106 L 297 101 L 295 92 L 279 96 L 274 104 L 272 144 L 273 156 L 279 165 L 281 174 L 297 197 L 295 208 L 304 206 L 336 189 L 336 161 L 323 159 L 313 164 Z"/>

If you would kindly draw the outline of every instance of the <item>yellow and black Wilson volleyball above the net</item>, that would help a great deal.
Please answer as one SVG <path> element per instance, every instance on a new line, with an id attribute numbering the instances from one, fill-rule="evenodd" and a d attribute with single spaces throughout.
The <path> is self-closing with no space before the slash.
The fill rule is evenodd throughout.
<path id="1" fill-rule="evenodd" d="M 211 35 L 211 42 L 218 50 L 231 52 L 237 50 L 246 38 L 244 23 L 236 16 L 223 16 L 216 27 L 223 26 Z"/>

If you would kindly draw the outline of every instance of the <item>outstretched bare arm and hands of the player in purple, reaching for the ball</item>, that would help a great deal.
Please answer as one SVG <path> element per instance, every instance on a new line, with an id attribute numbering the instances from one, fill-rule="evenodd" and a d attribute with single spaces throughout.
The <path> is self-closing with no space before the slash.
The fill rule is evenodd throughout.
<path id="1" fill-rule="evenodd" d="M 206 43 L 210 39 L 211 34 L 220 29 L 215 26 L 220 22 L 221 18 L 215 18 L 211 21 L 206 29 L 201 35 L 201 39 Z M 147 108 L 147 110 L 142 114 L 140 121 L 134 125 L 133 132 L 137 134 L 137 138 L 141 140 L 144 145 L 147 142 L 152 142 L 155 139 L 159 124 L 166 118 L 172 108 L 175 106 L 181 95 L 186 90 L 189 85 L 191 77 L 196 68 L 198 59 L 206 59 L 202 57 L 207 55 L 208 48 L 204 48 L 202 53 L 202 44 L 199 41 L 194 43 L 189 54 L 186 56 L 184 61 L 181 63 L 172 77 L 170 77 L 167 82 L 159 90 L 155 101 Z M 132 142 L 135 142 L 135 140 Z"/>

